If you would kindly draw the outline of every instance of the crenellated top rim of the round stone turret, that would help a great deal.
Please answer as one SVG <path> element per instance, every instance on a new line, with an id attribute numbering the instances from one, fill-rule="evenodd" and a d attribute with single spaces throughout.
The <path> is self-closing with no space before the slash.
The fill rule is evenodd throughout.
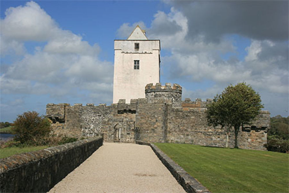
<path id="1" fill-rule="evenodd" d="M 182 87 L 179 84 L 173 84 L 166 83 L 164 86 L 162 86 L 161 83 L 156 83 L 153 85 L 153 83 L 149 83 L 145 87 L 145 93 L 152 93 L 152 92 L 174 92 L 174 93 L 182 93 Z"/>

